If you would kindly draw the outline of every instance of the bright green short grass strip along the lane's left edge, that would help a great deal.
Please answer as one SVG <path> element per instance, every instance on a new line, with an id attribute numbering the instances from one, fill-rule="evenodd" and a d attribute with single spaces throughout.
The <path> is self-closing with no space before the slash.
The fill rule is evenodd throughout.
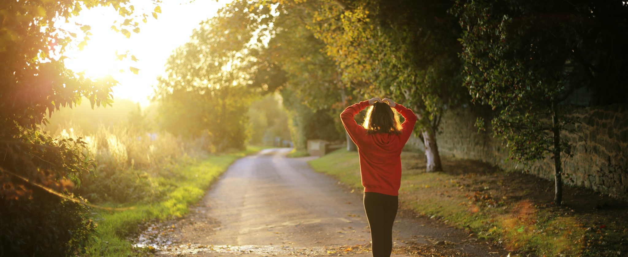
<path id="1" fill-rule="evenodd" d="M 173 190 L 159 202 L 140 204 L 125 211 L 95 210 L 94 219 L 98 223 L 97 234 L 87 246 L 87 256 L 136 256 L 145 255 L 133 248 L 127 236 L 136 233 L 138 224 L 151 219 L 180 217 L 187 213 L 188 206 L 198 202 L 205 190 L 235 160 L 261 150 L 261 147 L 247 147 L 241 152 L 212 155 L 207 159 L 181 167 L 176 177 L 164 177 Z M 119 207 L 119 206 L 110 206 Z"/>

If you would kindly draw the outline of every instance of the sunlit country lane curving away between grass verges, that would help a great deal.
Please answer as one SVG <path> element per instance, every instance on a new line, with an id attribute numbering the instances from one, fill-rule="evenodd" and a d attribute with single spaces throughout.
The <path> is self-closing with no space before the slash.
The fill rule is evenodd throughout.
<path id="1" fill-rule="evenodd" d="M 163 256 L 371 256 L 362 192 L 314 172 L 312 157 L 266 149 L 232 164 L 183 219 L 136 240 Z M 400 209 L 393 256 L 504 256 L 485 241 Z"/>

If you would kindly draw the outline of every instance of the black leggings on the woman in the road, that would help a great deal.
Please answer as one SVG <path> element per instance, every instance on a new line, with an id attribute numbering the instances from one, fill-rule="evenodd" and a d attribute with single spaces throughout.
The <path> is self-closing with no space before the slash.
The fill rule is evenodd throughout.
<path id="1" fill-rule="evenodd" d="M 398 197 L 364 192 L 364 210 L 371 227 L 373 257 L 391 256 L 393 223 L 397 216 Z"/>

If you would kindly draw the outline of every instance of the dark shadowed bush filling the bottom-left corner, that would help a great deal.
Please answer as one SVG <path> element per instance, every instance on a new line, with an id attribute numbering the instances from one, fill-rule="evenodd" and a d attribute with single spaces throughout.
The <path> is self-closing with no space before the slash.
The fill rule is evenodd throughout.
<path id="1" fill-rule="evenodd" d="M 84 142 L 33 128 L 2 128 L 7 144 L 0 145 L 0 256 L 76 253 L 96 226 L 87 207 L 68 201 L 76 199 L 70 192 L 93 164 L 82 155 Z"/>

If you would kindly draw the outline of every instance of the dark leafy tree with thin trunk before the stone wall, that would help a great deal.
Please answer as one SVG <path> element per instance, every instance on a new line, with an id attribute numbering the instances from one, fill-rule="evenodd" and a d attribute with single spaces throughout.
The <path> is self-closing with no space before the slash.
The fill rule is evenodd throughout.
<path id="1" fill-rule="evenodd" d="M 623 8 L 624 16 L 617 15 L 620 12 L 605 15 L 610 6 Z M 619 2 L 583 1 L 457 1 L 453 8 L 463 28 L 464 84 L 473 102 L 497 111 L 491 121 L 492 131 L 506 141 L 511 159 L 529 162 L 549 154 L 554 160 L 556 204 L 562 202 L 565 173 L 561 155 L 570 156 L 570 144 L 561 132 L 577 122 L 561 112 L 561 102 L 575 88 L 598 90 L 598 85 L 591 83 L 595 80 L 615 82 L 606 88 L 625 88 L 605 76 L 626 76 L 625 55 L 608 56 L 609 51 L 626 50 L 597 43 L 615 39 L 599 34 L 595 28 L 599 20 L 604 24 L 616 22 L 625 28 L 626 11 L 626 5 Z M 596 38 L 595 34 L 603 37 Z M 627 45 L 625 40 L 616 42 Z M 602 63 L 607 61 L 614 63 L 614 69 L 597 71 L 596 66 L 582 60 L 581 53 L 587 53 L 597 66 L 605 66 Z M 484 127 L 483 123 L 480 119 L 479 127 Z"/>

